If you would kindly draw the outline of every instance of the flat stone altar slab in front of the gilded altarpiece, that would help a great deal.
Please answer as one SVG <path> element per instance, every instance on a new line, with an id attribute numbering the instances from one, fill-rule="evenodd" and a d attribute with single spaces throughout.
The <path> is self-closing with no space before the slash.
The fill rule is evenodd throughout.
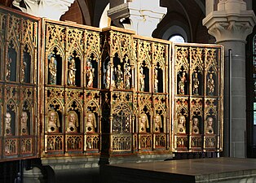
<path id="1" fill-rule="evenodd" d="M 104 183 L 256 182 L 256 159 L 183 159 L 121 163 L 100 169 Z"/>

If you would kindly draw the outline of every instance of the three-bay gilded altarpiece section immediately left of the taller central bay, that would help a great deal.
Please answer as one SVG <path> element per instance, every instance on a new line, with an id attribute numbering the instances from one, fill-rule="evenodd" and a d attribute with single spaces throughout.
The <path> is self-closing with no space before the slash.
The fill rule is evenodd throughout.
<path id="1" fill-rule="evenodd" d="M 99 154 L 99 31 L 44 20 L 43 155 Z"/>

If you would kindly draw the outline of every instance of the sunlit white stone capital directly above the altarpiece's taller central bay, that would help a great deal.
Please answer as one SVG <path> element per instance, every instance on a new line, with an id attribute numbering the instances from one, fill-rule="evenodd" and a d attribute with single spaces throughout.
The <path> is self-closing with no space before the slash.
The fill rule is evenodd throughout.
<path id="1" fill-rule="evenodd" d="M 117 3 L 119 2 L 119 3 Z M 108 16 L 117 27 L 134 30 L 140 36 L 152 37 L 167 8 L 159 0 L 110 0 Z"/>

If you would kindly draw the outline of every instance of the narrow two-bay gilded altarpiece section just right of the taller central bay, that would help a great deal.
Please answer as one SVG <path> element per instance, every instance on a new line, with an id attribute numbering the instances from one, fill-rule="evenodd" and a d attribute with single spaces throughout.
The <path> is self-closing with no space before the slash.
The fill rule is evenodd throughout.
<path id="1" fill-rule="evenodd" d="M 135 47 L 138 60 L 135 76 L 136 150 L 141 153 L 165 152 L 170 148 L 170 44 L 135 37 Z"/>

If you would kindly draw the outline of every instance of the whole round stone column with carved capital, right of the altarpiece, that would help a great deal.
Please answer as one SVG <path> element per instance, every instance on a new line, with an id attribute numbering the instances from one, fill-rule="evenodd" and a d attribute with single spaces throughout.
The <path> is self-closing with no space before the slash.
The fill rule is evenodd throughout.
<path id="1" fill-rule="evenodd" d="M 207 7 L 208 1 L 205 3 Z M 246 156 L 245 39 L 252 33 L 256 23 L 254 11 L 248 11 L 246 8 L 246 3 L 242 0 L 220 0 L 217 11 L 208 12 L 203 20 L 203 24 L 209 29 L 208 33 L 216 38 L 216 43 L 224 46 L 223 144 L 224 155 L 232 157 Z M 232 50 L 231 71 L 228 67 L 228 50 Z M 229 94 L 229 72 L 232 72 L 231 96 Z M 231 106 L 229 97 L 232 102 Z M 229 114 L 231 114 L 230 117 Z"/>

